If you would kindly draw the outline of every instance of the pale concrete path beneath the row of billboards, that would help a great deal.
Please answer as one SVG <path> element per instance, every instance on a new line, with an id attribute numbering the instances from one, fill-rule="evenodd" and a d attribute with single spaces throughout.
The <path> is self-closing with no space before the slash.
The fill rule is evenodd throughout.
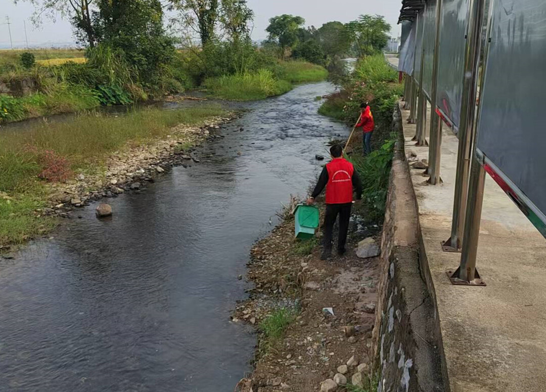
<path id="1" fill-rule="evenodd" d="M 428 159 L 428 147 L 411 141 L 408 116 L 402 110 L 406 154 Z M 450 284 L 446 271 L 460 254 L 442 252 L 440 243 L 450 235 L 458 139 L 445 128 L 443 185 L 411 171 L 451 390 L 546 391 L 546 240 L 488 176 L 477 260 L 487 287 Z"/>

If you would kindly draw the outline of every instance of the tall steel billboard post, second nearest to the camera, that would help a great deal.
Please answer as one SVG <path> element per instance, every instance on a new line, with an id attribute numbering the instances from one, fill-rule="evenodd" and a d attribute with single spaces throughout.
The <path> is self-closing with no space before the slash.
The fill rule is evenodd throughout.
<path id="1" fill-rule="evenodd" d="M 444 252 L 460 252 L 463 229 L 465 228 L 468 173 L 472 149 L 476 139 L 474 120 L 476 117 L 476 92 L 478 82 L 479 55 L 482 47 L 482 26 L 485 0 L 470 0 L 470 19 L 465 48 L 465 72 L 462 86 L 461 117 L 459 126 L 459 149 L 455 174 L 453 200 L 453 221 L 451 235 L 442 242 Z"/>

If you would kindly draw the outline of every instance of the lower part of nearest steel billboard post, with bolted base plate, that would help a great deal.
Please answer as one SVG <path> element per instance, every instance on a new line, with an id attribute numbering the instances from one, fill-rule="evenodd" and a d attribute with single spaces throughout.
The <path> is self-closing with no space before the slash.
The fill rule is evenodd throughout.
<path id="1" fill-rule="evenodd" d="M 485 170 L 474 153 L 470 181 L 468 183 L 468 205 L 466 207 L 465 234 L 462 241 L 461 264 L 455 271 L 447 271 L 453 284 L 465 286 L 486 286 L 476 269 L 479 226 L 482 220 Z"/>

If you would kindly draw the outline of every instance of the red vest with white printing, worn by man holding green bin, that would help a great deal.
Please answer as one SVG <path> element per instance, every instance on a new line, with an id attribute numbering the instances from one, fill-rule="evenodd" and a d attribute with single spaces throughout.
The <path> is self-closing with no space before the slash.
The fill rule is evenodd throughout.
<path id="1" fill-rule="evenodd" d="M 353 164 L 343 158 L 332 159 L 326 165 L 328 183 L 326 204 L 345 204 L 353 201 Z"/>

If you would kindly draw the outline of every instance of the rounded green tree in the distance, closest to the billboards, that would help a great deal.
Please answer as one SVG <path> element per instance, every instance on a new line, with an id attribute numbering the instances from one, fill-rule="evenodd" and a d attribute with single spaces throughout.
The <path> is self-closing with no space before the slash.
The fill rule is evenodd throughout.
<path id="1" fill-rule="evenodd" d="M 381 15 L 360 15 L 347 29 L 360 57 L 382 50 L 389 40 L 390 25 Z"/>

